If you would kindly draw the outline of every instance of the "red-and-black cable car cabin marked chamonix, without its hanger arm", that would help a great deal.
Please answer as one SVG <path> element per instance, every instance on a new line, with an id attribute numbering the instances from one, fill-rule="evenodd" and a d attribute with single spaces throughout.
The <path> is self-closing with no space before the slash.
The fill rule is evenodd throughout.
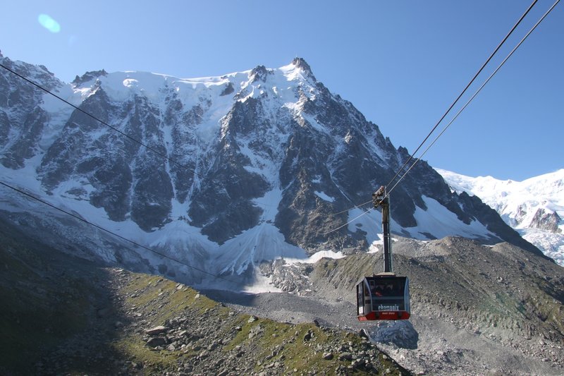
<path id="1" fill-rule="evenodd" d="M 359 321 L 410 318 L 410 280 L 393 273 L 364 277 L 357 284 Z"/>

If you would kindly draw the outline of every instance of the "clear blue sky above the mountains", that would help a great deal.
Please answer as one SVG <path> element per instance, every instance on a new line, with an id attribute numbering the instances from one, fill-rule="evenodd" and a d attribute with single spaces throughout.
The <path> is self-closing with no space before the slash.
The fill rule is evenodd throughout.
<path id="1" fill-rule="evenodd" d="M 20 1 L 0 13 L 0 50 L 66 82 L 102 68 L 223 75 L 301 56 L 412 152 L 531 2 Z M 552 4 L 538 1 L 470 94 Z M 563 37 L 558 4 L 423 159 L 519 181 L 564 168 Z"/>

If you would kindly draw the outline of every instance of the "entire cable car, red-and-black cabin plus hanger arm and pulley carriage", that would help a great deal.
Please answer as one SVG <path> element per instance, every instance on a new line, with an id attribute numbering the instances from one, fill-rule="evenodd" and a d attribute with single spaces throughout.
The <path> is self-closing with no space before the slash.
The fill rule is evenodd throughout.
<path id="1" fill-rule="evenodd" d="M 363 277 L 357 283 L 357 318 L 369 320 L 407 320 L 411 315 L 410 280 L 393 272 L 390 236 L 390 198 L 386 187 L 372 194 L 375 208 L 382 208 L 384 232 L 384 272 Z"/>

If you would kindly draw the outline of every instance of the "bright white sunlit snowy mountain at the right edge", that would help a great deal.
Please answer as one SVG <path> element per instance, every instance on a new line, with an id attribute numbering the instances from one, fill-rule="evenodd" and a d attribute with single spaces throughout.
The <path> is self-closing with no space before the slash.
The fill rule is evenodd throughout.
<path id="1" fill-rule="evenodd" d="M 456 192 L 477 195 L 523 238 L 564 266 L 564 169 L 525 181 L 436 171 Z"/>

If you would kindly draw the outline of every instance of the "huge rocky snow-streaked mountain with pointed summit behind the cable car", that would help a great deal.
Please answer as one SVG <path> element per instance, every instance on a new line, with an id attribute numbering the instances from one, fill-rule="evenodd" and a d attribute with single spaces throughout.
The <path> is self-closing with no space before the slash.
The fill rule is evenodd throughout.
<path id="1" fill-rule="evenodd" d="M 369 207 L 356 205 L 409 157 L 303 59 L 192 79 L 96 71 L 70 84 L 44 66 L 0 61 L 81 110 L 0 69 L 3 181 L 214 274 L 368 250 L 380 214 L 360 216 Z M 391 200 L 396 234 L 540 253 L 478 198 L 452 193 L 426 162 Z"/>

